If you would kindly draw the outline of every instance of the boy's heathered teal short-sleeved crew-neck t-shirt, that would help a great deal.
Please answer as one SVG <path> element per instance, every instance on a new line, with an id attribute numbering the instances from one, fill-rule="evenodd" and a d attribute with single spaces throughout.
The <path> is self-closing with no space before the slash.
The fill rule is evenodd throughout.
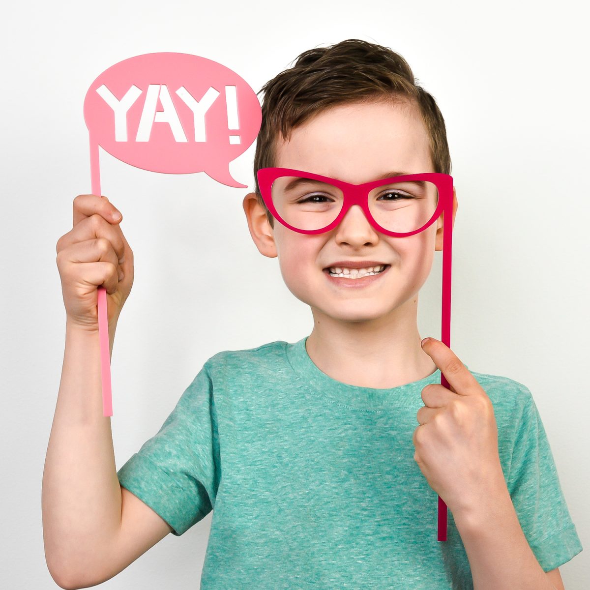
<path id="1" fill-rule="evenodd" d="M 205 362 L 117 475 L 182 535 L 211 510 L 202 590 L 472 589 L 448 510 L 414 461 L 421 392 L 348 385 L 282 340 Z M 471 371 L 489 396 L 500 462 L 544 571 L 582 550 L 529 389 Z"/>

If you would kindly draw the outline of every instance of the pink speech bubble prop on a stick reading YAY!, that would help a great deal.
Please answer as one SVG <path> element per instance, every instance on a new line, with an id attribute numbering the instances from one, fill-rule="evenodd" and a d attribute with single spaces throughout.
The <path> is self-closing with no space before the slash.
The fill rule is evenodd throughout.
<path id="1" fill-rule="evenodd" d="M 148 53 L 120 61 L 84 99 L 92 193 L 100 195 L 99 145 L 136 168 L 206 172 L 227 186 L 229 163 L 258 135 L 262 112 L 253 89 L 216 61 L 186 53 Z M 113 415 L 107 297 L 98 289 L 103 415 Z"/>

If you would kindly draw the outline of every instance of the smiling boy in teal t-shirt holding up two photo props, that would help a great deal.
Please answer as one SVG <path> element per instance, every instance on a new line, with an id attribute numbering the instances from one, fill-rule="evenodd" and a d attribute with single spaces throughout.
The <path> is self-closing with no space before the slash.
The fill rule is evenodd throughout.
<path id="1" fill-rule="evenodd" d="M 306 51 L 263 90 L 255 175 L 284 168 L 358 185 L 450 173 L 441 113 L 388 48 L 347 40 Z M 421 346 L 418 291 L 442 250 L 442 218 L 393 237 L 354 205 L 329 231 L 294 231 L 283 222 L 325 227 L 318 216 L 329 220 L 342 198 L 330 183 L 289 192 L 297 178 L 290 173 L 266 196 L 281 222 L 258 181 L 243 206 L 258 250 L 278 257 L 287 287 L 311 307 L 312 333 L 209 358 L 118 472 L 91 364 L 96 331 L 70 296 L 73 257 L 60 257 L 75 240 L 60 238 L 68 330 L 43 483 L 55 581 L 80 588 L 109 579 L 215 508 L 201 577 L 208 590 L 562 589 L 558 566 L 582 546 L 530 391 L 468 371 L 441 342 Z M 373 195 L 373 217 L 385 211 L 394 224 L 435 204 L 404 187 L 388 192 L 387 205 Z M 113 339 L 132 252 L 108 217 L 112 205 L 77 199 L 74 224 L 76 215 L 80 224 L 95 218 L 112 245 L 103 258 L 111 274 L 94 284 L 122 293 Z M 96 296 L 84 309 L 96 313 Z M 451 390 L 440 385 L 441 368 Z M 87 390 L 90 377 L 85 406 L 75 390 Z M 436 537 L 437 493 L 449 509 L 445 542 Z"/>

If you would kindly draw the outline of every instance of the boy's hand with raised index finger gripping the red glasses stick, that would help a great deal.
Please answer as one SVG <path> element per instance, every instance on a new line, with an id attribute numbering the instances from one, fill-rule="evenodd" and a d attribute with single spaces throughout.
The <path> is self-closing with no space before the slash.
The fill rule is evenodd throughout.
<path id="1" fill-rule="evenodd" d="M 440 340 L 422 347 L 451 389 L 432 383 L 422 389 L 424 407 L 412 442 L 414 460 L 430 487 L 454 516 L 477 508 L 481 499 L 506 487 L 498 454 L 494 408 L 476 378 Z"/>

